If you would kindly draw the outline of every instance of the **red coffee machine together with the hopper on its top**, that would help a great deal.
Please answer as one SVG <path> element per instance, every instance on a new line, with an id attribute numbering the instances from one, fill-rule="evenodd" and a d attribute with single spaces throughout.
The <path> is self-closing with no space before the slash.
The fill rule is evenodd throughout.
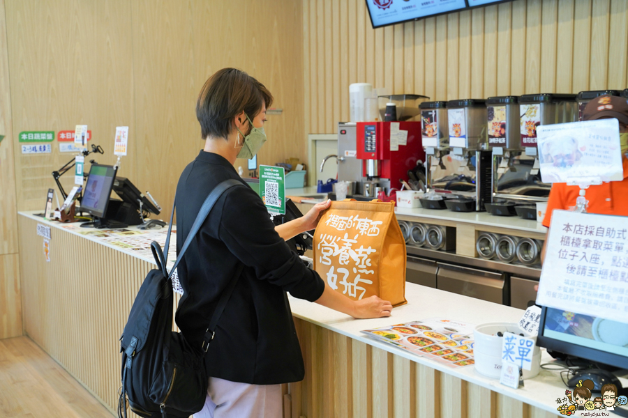
<path id="1" fill-rule="evenodd" d="M 419 103 L 426 99 L 419 95 L 380 96 L 382 120 L 396 121 L 357 123 L 356 150 L 362 163 L 361 192 L 365 197 L 375 198 L 380 189 L 387 194 L 401 189 L 401 181 L 408 181 L 408 171 L 416 167 L 417 160 L 425 159 L 421 123 L 412 119 L 419 114 Z M 385 115 L 387 108 L 389 116 Z M 396 116 L 391 117 L 391 110 Z"/>

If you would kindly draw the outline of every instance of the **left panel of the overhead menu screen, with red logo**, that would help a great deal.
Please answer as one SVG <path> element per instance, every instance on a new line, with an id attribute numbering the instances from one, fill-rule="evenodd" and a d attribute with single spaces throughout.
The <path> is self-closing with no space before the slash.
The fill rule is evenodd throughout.
<path id="1" fill-rule="evenodd" d="M 463 10 L 465 0 L 366 0 L 373 28 Z"/>

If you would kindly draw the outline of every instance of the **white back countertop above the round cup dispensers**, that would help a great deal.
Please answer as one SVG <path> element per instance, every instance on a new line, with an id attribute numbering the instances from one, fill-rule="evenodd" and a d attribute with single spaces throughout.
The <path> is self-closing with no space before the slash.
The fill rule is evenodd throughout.
<path id="1" fill-rule="evenodd" d="M 518 216 L 495 216 L 488 212 L 453 212 L 447 209 L 395 208 L 396 215 L 424 217 L 452 222 L 464 222 L 475 225 L 494 226 L 517 231 L 546 233 L 547 228 L 541 222 L 522 219 Z"/>

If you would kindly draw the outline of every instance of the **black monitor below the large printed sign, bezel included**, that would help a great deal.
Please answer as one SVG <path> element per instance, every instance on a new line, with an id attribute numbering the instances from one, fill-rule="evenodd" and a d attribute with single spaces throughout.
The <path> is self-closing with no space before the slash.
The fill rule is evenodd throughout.
<path id="1" fill-rule="evenodd" d="M 628 323 L 544 307 L 537 345 L 593 364 L 628 369 Z"/>

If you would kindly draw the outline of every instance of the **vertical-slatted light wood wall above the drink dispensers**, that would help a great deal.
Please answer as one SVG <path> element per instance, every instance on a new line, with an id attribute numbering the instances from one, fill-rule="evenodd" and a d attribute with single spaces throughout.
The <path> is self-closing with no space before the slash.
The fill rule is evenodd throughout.
<path id="1" fill-rule="evenodd" d="M 432 100 L 628 87 L 625 0 L 515 0 L 375 30 L 363 0 L 302 1 L 308 133 L 349 120 L 356 82 Z"/>

